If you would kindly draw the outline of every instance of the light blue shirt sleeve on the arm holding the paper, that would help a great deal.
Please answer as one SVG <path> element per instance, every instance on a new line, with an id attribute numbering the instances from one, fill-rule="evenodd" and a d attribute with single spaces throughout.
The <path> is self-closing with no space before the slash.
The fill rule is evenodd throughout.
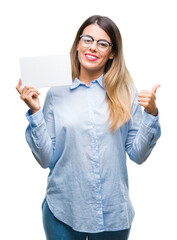
<path id="1" fill-rule="evenodd" d="M 26 114 L 29 125 L 26 140 L 38 163 L 43 168 L 52 168 L 55 163 L 55 122 L 51 90 L 48 91 L 43 107 L 35 114 Z"/>

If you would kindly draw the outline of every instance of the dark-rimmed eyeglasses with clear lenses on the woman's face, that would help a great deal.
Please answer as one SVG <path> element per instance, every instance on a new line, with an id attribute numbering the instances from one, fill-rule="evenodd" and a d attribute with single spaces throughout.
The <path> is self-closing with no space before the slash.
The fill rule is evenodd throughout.
<path id="1" fill-rule="evenodd" d="M 105 52 L 108 50 L 109 47 L 113 46 L 112 43 L 104 40 L 104 39 L 100 39 L 100 40 L 95 40 L 93 39 L 93 37 L 89 36 L 89 35 L 80 35 L 80 43 L 82 45 L 82 47 L 90 47 L 94 41 L 97 42 L 97 49 L 100 52 Z"/>

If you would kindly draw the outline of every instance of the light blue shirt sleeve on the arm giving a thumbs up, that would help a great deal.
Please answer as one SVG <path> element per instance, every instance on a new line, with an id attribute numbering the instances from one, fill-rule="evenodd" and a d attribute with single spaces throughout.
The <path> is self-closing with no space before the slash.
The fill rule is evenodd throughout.
<path id="1" fill-rule="evenodd" d="M 125 149 L 131 160 L 142 164 L 152 152 L 161 135 L 158 116 L 153 116 L 144 111 L 137 101 L 137 94 L 132 106 L 132 121 L 129 121 L 128 135 Z"/>

